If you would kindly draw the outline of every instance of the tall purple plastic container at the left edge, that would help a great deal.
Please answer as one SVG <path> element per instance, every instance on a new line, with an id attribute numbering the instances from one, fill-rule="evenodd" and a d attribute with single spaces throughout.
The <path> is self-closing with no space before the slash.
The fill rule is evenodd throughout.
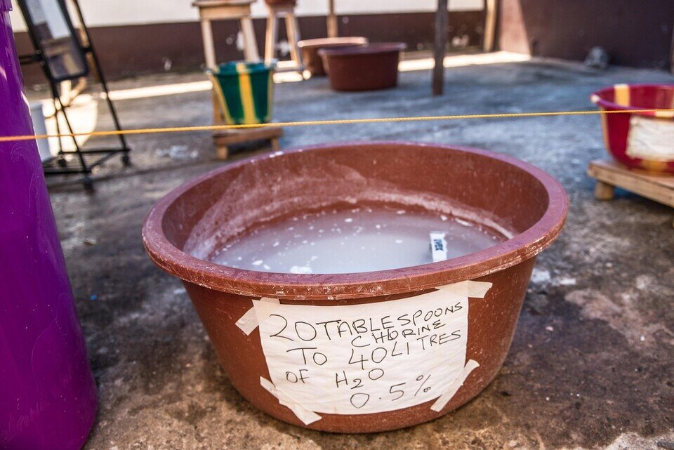
<path id="1" fill-rule="evenodd" d="M 32 134 L 0 0 L 0 135 Z M 0 449 L 84 444 L 96 388 L 35 141 L 0 143 Z"/>

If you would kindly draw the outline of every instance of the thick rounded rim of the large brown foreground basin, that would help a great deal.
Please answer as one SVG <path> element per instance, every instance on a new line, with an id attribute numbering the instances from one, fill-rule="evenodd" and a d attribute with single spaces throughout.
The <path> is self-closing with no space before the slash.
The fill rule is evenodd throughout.
<path id="1" fill-rule="evenodd" d="M 315 145 L 284 150 L 276 156 L 267 154 L 244 159 L 236 163 L 209 171 L 194 180 L 177 187 L 160 199 L 152 207 L 143 223 L 143 245 L 150 258 L 166 272 L 187 282 L 209 289 L 236 293 L 252 297 L 273 297 L 282 299 L 333 300 L 340 298 L 366 298 L 382 295 L 395 295 L 421 291 L 455 283 L 467 279 L 477 279 L 487 274 L 503 270 L 536 256 L 555 240 L 569 209 L 569 200 L 564 188 L 548 173 L 531 164 L 503 154 L 453 145 L 430 143 L 411 143 L 397 141 L 368 142 L 369 146 L 412 146 L 444 148 L 454 152 L 469 152 L 482 157 L 498 159 L 512 164 L 530 176 L 536 178 L 548 194 L 548 207 L 543 216 L 529 229 L 515 234 L 507 241 L 487 249 L 469 253 L 458 258 L 428 263 L 412 267 L 402 267 L 375 272 L 357 272 L 342 274 L 289 274 L 258 272 L 235 269 L 201 260 L 182 249 L 178 249 L 164 234 L 163 218 L 166 210 L 181 195 L 199 183 L 217 176 L 219 173 L 233 170 L 251 161 L 259 163 L 271 157 L 292 157 L 296 152 L 320 151 L 350 147 L 364 143 L 345 142 L 329 145 Z M 252 225 L 252 224 L 251 224 Z"/>

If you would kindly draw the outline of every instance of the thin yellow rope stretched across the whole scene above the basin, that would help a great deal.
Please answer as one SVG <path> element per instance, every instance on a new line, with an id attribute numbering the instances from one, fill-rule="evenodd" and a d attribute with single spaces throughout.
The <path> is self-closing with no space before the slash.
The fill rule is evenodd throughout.
<path id="1" fill-rule="evenodd" d="M 457 120 L 457 119 L 504 119 L 508 117 L 543 117 L 543 116 L 581 116 L 593 114 L 625 114 L 641 112 L 670 112 L 674 114 L 674 108 L 652 110 L 617 110 L 617 111 L 550 111 L 550 112 L 505 112 L 502 114 L 456 114 L 451 116 L 419 116 L 419 117 L 379 117 L 375 119 L 332 119 L 332 120 L 306 120 L 296 122 L 274 122 L 270 124 L 246 124 L 246 125 L 204 125 L 204 126 L 170 126 L 166 128 L 136 128 L 128 130 L 90 131 L 88 133 L 62 133 L 62 134 L 39 134 L 39 135 L 15 135 L 0 136 L 0 143 L 16 140 L 34 140 L 45 138 L 74 138 L 77 136 L 116 136 L 131 134 L 151 133 L 184 133 L 186 131 L 216 131 L 237 130 L 242 128 L 265 128 L 269 126 L 311 126 L 311 125 L 343 125 L 343 124 L 379 124 L 382 122 L 410 122 L 430 120 Z"/>

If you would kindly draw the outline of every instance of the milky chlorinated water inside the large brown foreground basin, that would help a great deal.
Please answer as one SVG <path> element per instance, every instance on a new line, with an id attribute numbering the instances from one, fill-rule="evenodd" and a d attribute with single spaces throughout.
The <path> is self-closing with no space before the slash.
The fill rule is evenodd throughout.
<path id="1" fill-rule="evenodd" d="M 336 274 L 433 262 L 430 233 L 444 233 L 447 258 L 487 249 L 501 234 L 465 220 L 405 207 L 325 209 L 251 227 L 211 261 L 263 272 Z"/>

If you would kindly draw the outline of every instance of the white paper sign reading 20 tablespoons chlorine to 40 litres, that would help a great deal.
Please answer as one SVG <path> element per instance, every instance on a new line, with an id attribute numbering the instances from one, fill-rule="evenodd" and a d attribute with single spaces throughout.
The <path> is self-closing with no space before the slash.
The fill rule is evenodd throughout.
<path id="1" fill-rule="evenodd" d="M 253 300 L 237 324 L 246 333 L 259 326 L 271 378 L 261 383 L 305 423 L 319 420 L 315 413 L 376 413 L 432 399 L 440 411 L 479 365 L 465 359 L 468 297 L 490 287 L 461 282 L 363 305 Z"/>

